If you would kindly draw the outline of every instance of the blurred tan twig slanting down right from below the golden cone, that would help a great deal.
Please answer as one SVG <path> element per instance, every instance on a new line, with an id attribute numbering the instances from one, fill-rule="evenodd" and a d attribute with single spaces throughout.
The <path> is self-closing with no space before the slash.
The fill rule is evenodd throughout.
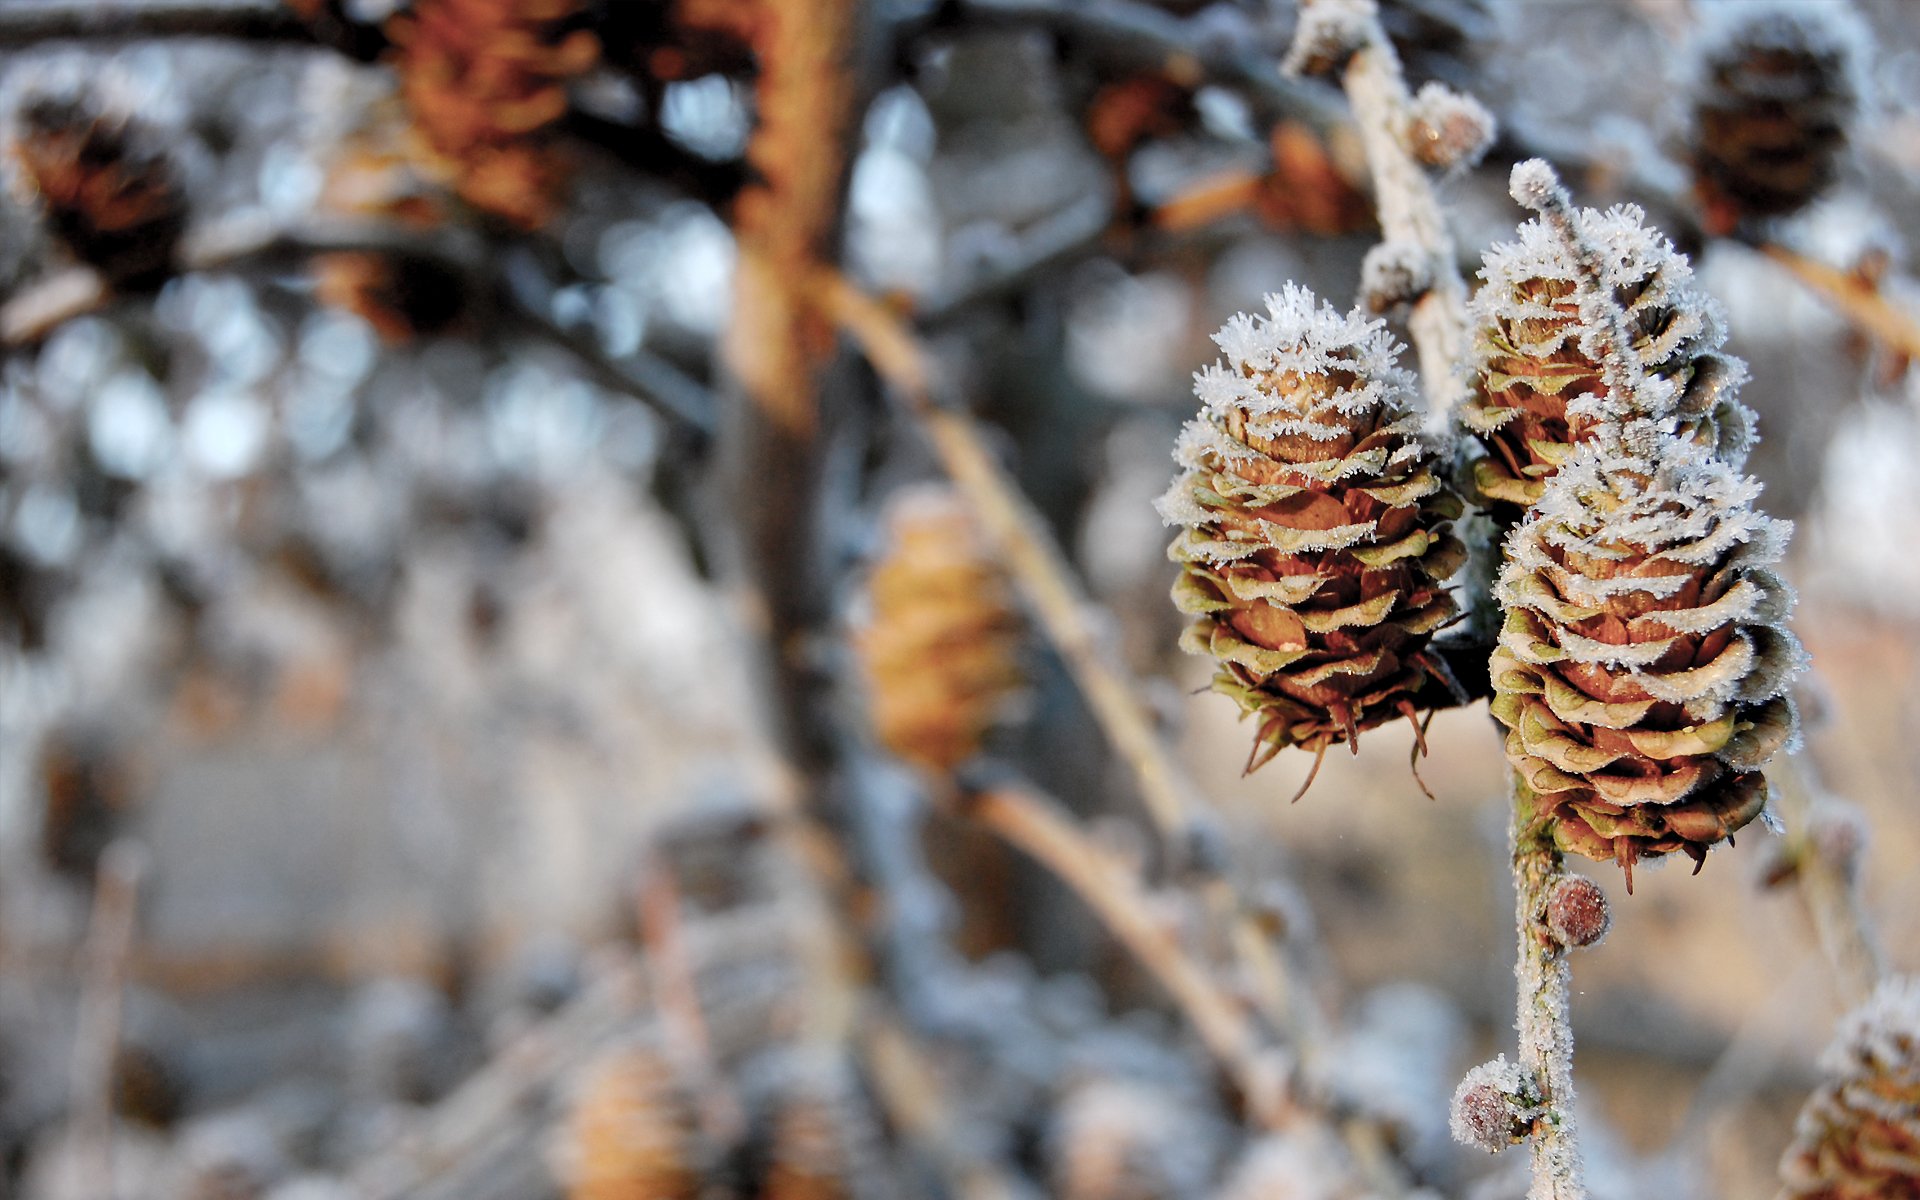
<path id="1" fill-rule="evenodd" d="M 1031 854 L 1092 908 L 1187 1014 L 1261 1121 L 1284 1125 L 1298 1116 L 1284 1079 L 1273 1077 L 1267 1037 L 1252 1014 L 1181 948 L 1129 866 L 1102 851 L 1056 803 L 1029 789 L 996 787 L 970 797 L 966 814 Z"/>

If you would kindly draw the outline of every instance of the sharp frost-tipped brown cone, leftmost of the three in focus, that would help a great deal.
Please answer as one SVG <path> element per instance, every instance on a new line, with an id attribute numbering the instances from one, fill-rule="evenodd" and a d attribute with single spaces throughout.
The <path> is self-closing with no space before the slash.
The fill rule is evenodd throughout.
<path id="1" fill-rule="evenodd" d="M 1427 643 L 1455 612 L 1461 505 L 1379 321 L 1288 284 L 1213 340 L 1227 363 L 1194 378 L 1204 407 L 1160 513 L 1181 526 L 1181 645 L 1217 659 L 1213 689 L 1260 722 L 1254 770 L 1415 714 L 1442 674 Z"/>

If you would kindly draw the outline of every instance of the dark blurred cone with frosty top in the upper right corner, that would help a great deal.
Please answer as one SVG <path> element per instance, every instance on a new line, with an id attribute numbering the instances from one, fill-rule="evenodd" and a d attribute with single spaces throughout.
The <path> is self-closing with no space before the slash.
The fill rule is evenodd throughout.
<path id="1" fill-rule="evenodd" d="M 1693 186 L 1707 232 L 1786 217 L 1839 173 L 1864 31 L 1845 4 L 1734 4 L 1697 44 Z"/>

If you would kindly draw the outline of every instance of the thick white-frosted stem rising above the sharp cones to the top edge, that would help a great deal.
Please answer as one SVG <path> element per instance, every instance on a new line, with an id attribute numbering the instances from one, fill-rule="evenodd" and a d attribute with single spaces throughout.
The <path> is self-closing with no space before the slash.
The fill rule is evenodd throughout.
<path id="1" fill-rule="evenodd" d="M 1388 242 L 1419 246 L 1430 259 L 1432 284 L 1413 303 L 1407 332 L 1421 359 L 1428 415 L 1438 422 L 1467 394 L 1459 372 L 1467 357 L 1467 282 L 1459 276 L 1453 234 L 1448 232 L 1432 179 L 1402 142 L 1411 96 L 1400 56 L 1379 19 L 1371 23 L 1367 44 L 1348 63 L 1344 84 L 1373 173 L 1380 234 Z"/>

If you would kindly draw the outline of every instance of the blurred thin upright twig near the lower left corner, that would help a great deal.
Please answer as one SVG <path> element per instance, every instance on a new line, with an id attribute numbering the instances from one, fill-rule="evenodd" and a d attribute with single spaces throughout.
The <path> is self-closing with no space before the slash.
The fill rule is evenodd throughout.
<path id="1" fill-rule="evenodd" d="M 84 1194 L 113 1196 L 113 1068 L 121 1044 L 121 1006 L 146 849 L 115 841 L 94 874 L 94 912 L 86 927 L 86 975 L 73 1035 L 69 1123 L 83 1152 Z"/>

